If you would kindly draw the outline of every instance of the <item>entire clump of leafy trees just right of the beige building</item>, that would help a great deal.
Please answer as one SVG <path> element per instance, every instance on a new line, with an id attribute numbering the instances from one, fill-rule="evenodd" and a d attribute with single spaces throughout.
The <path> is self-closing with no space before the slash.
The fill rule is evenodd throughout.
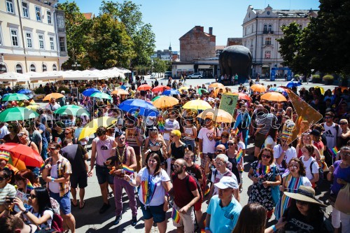
<path id="1" fill-rule="evenodd" d="M 64 10 L 69 60 L 63 65 L 71 69 L 73 62 L 81 69 L 113 66 L 150 66 L 155 49 L 151 24 L 142 22 L 139 5 L 132 1 L 102 1 L 100 13 L 87 20 L 77 4 L 58 4 Z"/>

